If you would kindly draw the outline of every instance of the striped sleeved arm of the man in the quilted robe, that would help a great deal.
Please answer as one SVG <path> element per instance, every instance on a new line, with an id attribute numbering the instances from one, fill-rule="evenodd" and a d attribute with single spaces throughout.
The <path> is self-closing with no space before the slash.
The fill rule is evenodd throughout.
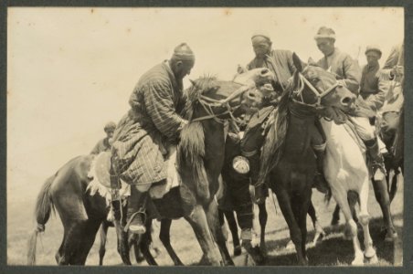
<path id="1" fill-rule="evenodd" d="M 186 121 L 175 110 L 172 88 L 163 80 L 150 81 L 144 94 L 145 109 L 155 127 L 170 141 L 175 141 Z"/>

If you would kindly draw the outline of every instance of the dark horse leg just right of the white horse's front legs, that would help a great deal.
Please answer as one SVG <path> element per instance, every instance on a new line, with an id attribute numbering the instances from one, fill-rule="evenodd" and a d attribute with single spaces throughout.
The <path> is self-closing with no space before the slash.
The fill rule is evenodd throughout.
<path id="1" fill-rule="evenodd" d="M 385 180 L 376 181 L 372 179 L 373 188 L 375 190 L 376 201 L 380 205 L 383 213 L 383 220 L 386 226 L 386 240 L 393 240 L 397 237 L 397 232 L 393 226 L 393 220 L 390 211 L 390 198 L 387 192 L 387 184 Z"/>

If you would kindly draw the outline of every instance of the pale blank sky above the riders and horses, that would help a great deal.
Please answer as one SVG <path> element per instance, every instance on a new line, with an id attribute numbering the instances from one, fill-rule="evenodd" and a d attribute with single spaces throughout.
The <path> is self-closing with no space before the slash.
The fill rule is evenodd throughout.
<path id="1" fill-rule="evenodd" d="M 366 45 L 379 45 L 383 62 L 403 25 L 403 8 L 393 7 L 9 8 L 7 185 L 46 179 L 90 153 L 106 121 L 128 110 L 143 72 L 181 42 L 196 54 L 189 78 L 231 79 L 253 58 L 250 37 L 259 31 L 306 61 L 322 57 L 313 36 L 330 26 L 336 46 L 363 65 Z"/>

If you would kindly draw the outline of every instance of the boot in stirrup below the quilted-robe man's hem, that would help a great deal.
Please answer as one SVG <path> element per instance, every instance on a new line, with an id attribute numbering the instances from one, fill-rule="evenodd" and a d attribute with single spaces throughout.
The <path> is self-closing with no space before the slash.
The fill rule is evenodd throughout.
<path id="1" fill-rule="evenodd" d="M 131 184 L 131 196 L 128 199 L 128 209 L 126 212 L 127 223 L 125 231 L 129 229 L 132 233 L 144 234 L 145 227 L 145 209 L 148 192 L 140 192 L 136 185 Z"/>

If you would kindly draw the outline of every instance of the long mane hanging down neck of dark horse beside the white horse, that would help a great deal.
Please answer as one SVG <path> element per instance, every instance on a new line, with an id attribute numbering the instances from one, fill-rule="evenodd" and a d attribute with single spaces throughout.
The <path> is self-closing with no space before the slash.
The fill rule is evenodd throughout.
<path id="1" fill-rule="evenodd" d="M 293 81 L 290 81 L 281 95 L 279 107 L 271 114 L 274 115 L 274 122 L 262 147 L 258 184 L 265 183 L 267 175 L 281 160 L 290 121 L 289 101 L 292 91 Z"/>

